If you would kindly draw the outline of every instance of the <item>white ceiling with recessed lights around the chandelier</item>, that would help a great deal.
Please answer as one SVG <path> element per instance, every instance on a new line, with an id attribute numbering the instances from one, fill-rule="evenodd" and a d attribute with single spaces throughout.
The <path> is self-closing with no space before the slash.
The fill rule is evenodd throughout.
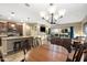
<path id="1" fill-rule="evenodd" d="M 87 15 L 87 3 L 55 3 L 57 10 L 65 9 L 66 13 L 62 18 L 59 23 L 73 23 L 80 22 Z M 40 17 L 41 11 L 47 11 L 48 3 L 0 3 L 0 19 L 22 22 L 39 22 L 45 23 Z M 14 12 L 14 17 L 11 17 L 11 12 Z"/>

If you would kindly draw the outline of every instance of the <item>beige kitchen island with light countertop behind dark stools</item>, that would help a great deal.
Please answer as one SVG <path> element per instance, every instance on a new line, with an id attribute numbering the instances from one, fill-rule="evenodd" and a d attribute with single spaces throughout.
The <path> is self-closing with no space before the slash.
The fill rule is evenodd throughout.
<path id="1" fill-rule="evenodd" d="M 7 37 L 1 37 L 1 43 L 2 43 L 2 53 L 3 55 L 7 55 L 8 52 L 13 51 L 13 44 L 14 42 L 22 41 L 24 39 L 29 39 L 30 36 L 7 36 Z"/>

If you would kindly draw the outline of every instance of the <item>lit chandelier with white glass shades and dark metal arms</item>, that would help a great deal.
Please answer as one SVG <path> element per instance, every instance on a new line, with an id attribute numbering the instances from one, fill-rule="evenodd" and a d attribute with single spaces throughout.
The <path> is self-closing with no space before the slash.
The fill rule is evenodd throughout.
<path id="1" fill-rule="evenodd" d="M 57 21 L 62 19 L 66 12 L 65 9 L 61 9 L 57 11 L 56 8 L 57 6 L 54 4 L 50 6 L 50 9 L 46 12 L 45 11 L 40 12 L 41 18 L 46 22 L 48 22 L 50 24 L 56 24 Z"/>

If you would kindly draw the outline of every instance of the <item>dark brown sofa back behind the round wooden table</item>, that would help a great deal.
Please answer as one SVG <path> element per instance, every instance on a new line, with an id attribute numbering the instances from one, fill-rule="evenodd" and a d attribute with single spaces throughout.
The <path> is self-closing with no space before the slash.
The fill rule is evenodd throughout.
<path id="1" fill-rule="evenodd" d="M 51 43 L 65 47 L 69 53 L 72 51 L 72 40 L 70 39 L 54 37 L 51 40 Z"/>

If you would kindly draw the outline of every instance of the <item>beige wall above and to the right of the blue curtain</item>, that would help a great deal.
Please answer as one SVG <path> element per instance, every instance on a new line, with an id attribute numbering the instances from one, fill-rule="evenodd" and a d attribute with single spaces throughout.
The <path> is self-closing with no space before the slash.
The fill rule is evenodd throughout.
<path id="1" fill-rule="evenodd" d="M 59 24 L 59 25 L 56 25 L 55 28 L 57 28 L 57 29 L 66 29 L 66 28 L 69 28 L 69 26 L 74 26 L 74 37 L 83 35 L 81 22 L 68 23 L 68 24 Z"/>

